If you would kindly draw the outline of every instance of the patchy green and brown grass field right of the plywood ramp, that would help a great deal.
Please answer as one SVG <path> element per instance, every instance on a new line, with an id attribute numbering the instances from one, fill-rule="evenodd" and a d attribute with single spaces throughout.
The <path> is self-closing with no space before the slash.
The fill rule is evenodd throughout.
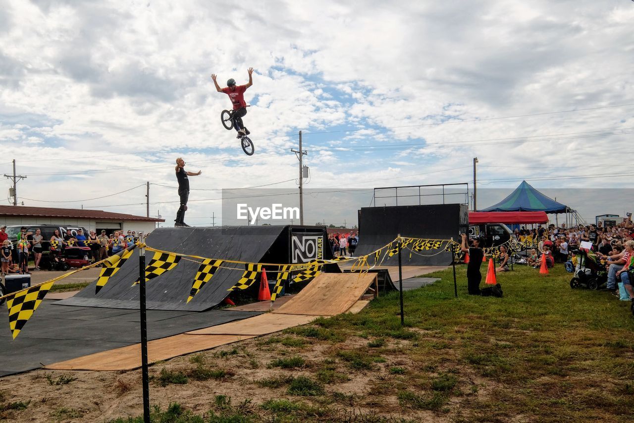
<path id="1" fill-rule="evenodd" d="M 457 270 L 458 299 L 451 269 L 430 275 L 441 278 L 434 285 L 404 293 L 404 328 L 398 293 L 391 293 L 359 314 L 155 365 L 153 420 L 634 419 L 629 302 L 571 290 L 560 265 L 547 276 L 516 267 L 498 274 L 502 299 L 470 297 L 465 267 Z M 184 387 L 197 401 L 179 396 Z"/>

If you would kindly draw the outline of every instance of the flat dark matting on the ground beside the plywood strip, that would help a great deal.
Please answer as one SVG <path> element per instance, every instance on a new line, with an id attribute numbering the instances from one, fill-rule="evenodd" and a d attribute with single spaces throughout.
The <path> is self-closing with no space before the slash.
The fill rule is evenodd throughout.
<path id="1" fill-rule="evenodd" d="M 220 325 L 260 312 L 148 311 L 148 339 Z M 25 372 L 71 358 L 140 342 L 139 311 L 70 307 L 42 301 L 29 323 L 13 340 L 8 325 L 0 330 L 0 376 Z M 42 364 L 41 364 L 42 363 Z"/>

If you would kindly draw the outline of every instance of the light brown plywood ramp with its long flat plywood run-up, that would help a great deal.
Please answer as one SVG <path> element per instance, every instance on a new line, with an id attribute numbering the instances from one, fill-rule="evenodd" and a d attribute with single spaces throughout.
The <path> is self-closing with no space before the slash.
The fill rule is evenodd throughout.
<path id="1" fill-rule="evenodd" d="M 376 293 L 376 274 L 323 273 L 275 311 L 252 318 L 210 326 L 148 342 L 148 362 L 174 358 L 219 347 L 243 339 L 306 325 L 318 316 L 359 312 L 368 305 L 361 300 L 370 290 Z M 141 366 L 141 344 L 89 354 L 47 365 L 51 370 L 133 370 Z"/>

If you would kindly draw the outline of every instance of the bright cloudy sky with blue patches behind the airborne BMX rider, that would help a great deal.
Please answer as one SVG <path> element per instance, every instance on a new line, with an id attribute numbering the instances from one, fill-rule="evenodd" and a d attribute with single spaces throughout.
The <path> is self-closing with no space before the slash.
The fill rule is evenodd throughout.
<path id="1" fill-rule="evenodd" d="M 183 156 L 203 172 L 186 222 L 219 224 L 221 189 L 297 189 L 300 130 L 306 192 L 472 182 L 474 157 L 479 189 L 634 177 L 631 0 L 1 4 L 0 175 L 16 159 L 24 205 L 145 215 L 149 181 L 169 224 Z M 210 79 L 249 67 L 252 157 Z M 572 197 L 586 218 L 631 208 Z M 356 222 L 319 204 L 313 220 Z"/>

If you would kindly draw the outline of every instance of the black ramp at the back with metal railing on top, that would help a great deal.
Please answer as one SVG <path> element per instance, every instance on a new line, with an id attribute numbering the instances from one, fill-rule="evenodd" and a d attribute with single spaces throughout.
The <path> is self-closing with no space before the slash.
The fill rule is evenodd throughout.
<path id="1" fill-rule="evenodd" d="M 460 204 L 363 207 L 359 210 L 359 245 L 355 255 L 365 255 L 393 241 L 398 234 L 410 238 L 458 239 L 468 225 L 469 211 Z M 448 265 L 451 253 L 439 250 L 403 252 L 403 265 Z M 398 255 L 384 265 L 398 265 Z"/>

